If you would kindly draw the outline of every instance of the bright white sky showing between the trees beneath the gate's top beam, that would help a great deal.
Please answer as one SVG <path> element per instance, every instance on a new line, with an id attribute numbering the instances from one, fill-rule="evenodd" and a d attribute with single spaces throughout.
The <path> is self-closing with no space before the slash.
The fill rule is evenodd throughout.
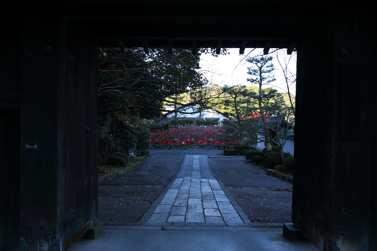
<path id="1" fill-rule="evenodd" d="M 270 49 L 269 52 L 272 52 L 274 49 Z M 247 67 L 251 67 L 253 64 L 248 63 L 245 59 L 247 56 L 257 56 L 263 54 L 263 49 L 245 49 L 243 55 L 239 55 L 238 48 L 228 49 L 230 54 L 228 55 L 218 55 L 214 57 L 210 54 L 202 55 L 200 66 L 201 70 L 204 71 L 204 75 L 207 77 L 210 83 L 218 85 L 250 85 L 250 82 L 247 82 L 246 78 L 251 76 L 247 74 Z M 276 60 L 275 53 L 268 54 L 274 58 L 272 61 L 275 70 L 273 74 L 275 75 L 276 81 L 272 82 L 270 87 L 274 87 L 279 91 L 287 92 L 287 84 L 285 82 L 284 74 L 282 73 L 281 67 Z M 284 60 L 288 61 L 290 55 L 287 55 L 287 50 L 282 49 L 278 52 L 278 58 L 281 63 L 284 63 Z M 296 74 L 296 54 L 290 60 L 288 64 L 288 69 Z M 265 86 L 268 87 L 268 86 Z M 295 85 L 290 85 L 290 91 L 295 95 L 296 88 Z"/>

